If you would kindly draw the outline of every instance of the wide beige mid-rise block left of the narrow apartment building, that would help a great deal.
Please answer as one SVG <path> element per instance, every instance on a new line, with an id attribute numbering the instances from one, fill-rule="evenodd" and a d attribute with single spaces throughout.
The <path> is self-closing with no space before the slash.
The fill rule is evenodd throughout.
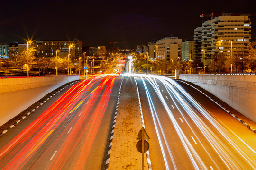
<path id="1" fill-rule="evenodd" d="M 166 37 L 158 40 L 157 45 L 157 58 L 170 61 L 175 58 L 182 57 L 182 39 L 177 37 Z"/>

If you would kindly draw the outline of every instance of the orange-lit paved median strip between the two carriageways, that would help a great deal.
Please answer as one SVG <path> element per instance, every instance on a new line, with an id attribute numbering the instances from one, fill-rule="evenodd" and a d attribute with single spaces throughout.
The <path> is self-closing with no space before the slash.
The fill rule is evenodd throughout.
<path id="1" fill-rule="evenodd" d="M 141 170 L 142 156 L 136 136 L 142 127 L 137 87 L 134 79 L 123 80 L 108 170 Z M 146 153 L 144 170 L 148 170 Z"/>

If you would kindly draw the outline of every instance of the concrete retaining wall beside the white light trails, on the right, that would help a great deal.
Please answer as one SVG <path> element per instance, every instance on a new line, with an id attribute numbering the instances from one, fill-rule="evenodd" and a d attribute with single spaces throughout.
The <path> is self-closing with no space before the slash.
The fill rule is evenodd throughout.
<path id="1" fill-rule="evenodd" d="M 256 122 L 256 74 L 180 75 Z"/>

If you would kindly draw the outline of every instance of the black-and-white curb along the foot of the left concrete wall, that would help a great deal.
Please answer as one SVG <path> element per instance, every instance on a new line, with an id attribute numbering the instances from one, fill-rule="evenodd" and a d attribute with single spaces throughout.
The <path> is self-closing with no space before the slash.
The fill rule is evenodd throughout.
<path id="1" fill-rule="evenodd" d="M 62 89 L 60 89 L 58 92 L 54 93 L 53 95 L 51 95 L 50 97 L 48 97 L 44 102 L 41 102 L 40 104 L 38 104 L 34 109 L 32 109 L 31 111 L 27 112 L 27 114 L 25 116 L 23 116 L 22 118 L 18 119 L 14 124 L 12 124 L 11 126 L 9 126 L 7 129 L 5 129 L 4 131 L 2 131 L 2 133 L 0 133 L 0 136 L 2 136 L 3 134 L 5 134 L 6 132 L 8 132 L 12 127 L 16 126 L 21 120 L 27 118 L 27 116 L 29 116 L 31 113 L 33 113 L 35 110 L 37 110 L 40 106 L 42 106 L 45 102 L 47 102 L 48 100 L 50 100 L 53 96 L 55 96 L 57 93 L 59 93 L 60 91 L 64 90 L 66 87 L 73 85 L 74 83 L 78 82 L 80 80 L 77 80 L 69 85 L 66 85 L 65 87 L 63 87 Z"/>

